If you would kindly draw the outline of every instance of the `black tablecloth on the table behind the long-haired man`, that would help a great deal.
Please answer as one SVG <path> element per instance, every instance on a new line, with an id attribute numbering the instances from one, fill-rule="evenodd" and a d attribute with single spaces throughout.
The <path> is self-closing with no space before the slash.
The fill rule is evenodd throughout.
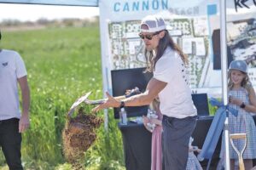
<path id="1" fill-rule="evenodd" d="M 254 122 L 256 116 L 253 116 Z M 207 132 L 211 126 L 213 116 L 199 117 L 196 123 L 195 131 L 192 134 L 194 138 L 193 145 L 200 149 L 206 139 Z M 135 122 L 128 122 L 127 125 L 119 124 L 122 133 L 125 167 L 127 170 L 150 170 L 151 166 L 151 133 L 143 126 Z M 218 139 L 217 147 L 212 156 L 212 169 L 216 169 L 218 156 L 221 146 L 221 137 Z M 255 160 L 254 160 L 255 161 Z M 253 161 L 253 162 L 254 162 Z M 253 163 L 254 164 L 254 163 Z M 201 162 L 202 167 L 207 167 L 207 160 Z"/>

